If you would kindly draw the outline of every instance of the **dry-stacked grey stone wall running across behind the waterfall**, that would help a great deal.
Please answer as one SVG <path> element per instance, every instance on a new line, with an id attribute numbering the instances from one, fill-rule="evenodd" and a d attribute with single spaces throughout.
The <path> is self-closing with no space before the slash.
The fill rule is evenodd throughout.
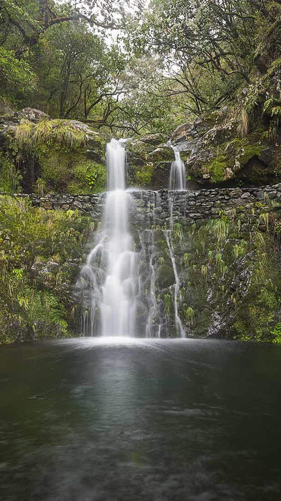
<path id="1" fill-rule="evenodd" d="M 274 205 L 281 203 L 281 183 L 254 188 L 215 188 L 175 192 L 132 190 L 131 195 L 134 199 L 131 211 L 134 224 L 169 226 L 171 217 L 174 222 L 184 218 L 186 223 L 193 223 L 215 217 L 221 210 L 227 213 L 233 207 L 237 211 L 242 211 L 244 208 L 250 208 L 251 204 L 255 204 L 255 208 L 260 204 L 263 209 L 268 205 L 272 210 Z M 13 196 L 29 198 L 36 207 L 78 209 L 82 213 L 91 213 L 100 218 L 106 194 Z"/>

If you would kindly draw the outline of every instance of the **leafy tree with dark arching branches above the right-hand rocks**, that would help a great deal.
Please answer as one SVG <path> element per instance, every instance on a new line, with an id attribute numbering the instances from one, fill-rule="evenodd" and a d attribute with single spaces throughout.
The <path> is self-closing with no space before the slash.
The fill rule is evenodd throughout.
<path id="1" fill-rule="evenodd" d="M 162 95 L 177 96 L 182 108 L 200 115 L 251 83 L 261 32 L 268 45 L 276 15 L 274 6 L 259 0 L 152 0 L 140 28 L 130 27 L 127 46 L 160 54 Z"/>

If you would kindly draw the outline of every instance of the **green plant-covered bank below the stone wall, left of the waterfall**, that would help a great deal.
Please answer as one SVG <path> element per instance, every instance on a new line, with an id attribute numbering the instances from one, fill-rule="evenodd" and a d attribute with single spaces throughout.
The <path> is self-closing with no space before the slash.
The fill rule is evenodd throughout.
<path id="1" fill-rule="evenodd" d="M 67 262 L 81 257 L 90 227 L 77 212 L 0 196 L 0 342 L 70 334 Z"/>

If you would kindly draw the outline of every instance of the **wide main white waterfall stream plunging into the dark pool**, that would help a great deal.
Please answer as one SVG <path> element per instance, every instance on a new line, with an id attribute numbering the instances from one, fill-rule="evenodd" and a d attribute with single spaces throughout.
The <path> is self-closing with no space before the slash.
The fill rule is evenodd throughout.
<path id="1" fill-rule="evenodd" d="M 81 276 L 90 283 L 90 334 L 133 336 L 138 292 L 138 254 L 128 229 L 132 199 L 125 191 L 121 140 L 106 146 L 107 187 L 101 231 Z M 100 314 L 100 321 L 97 320 Z"/>

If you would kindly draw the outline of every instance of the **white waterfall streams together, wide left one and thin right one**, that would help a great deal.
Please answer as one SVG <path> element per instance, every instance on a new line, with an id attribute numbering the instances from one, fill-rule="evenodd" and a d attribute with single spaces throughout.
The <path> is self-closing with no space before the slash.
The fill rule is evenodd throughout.
<path id="1" fill-rule="evenodd" d="M 106 146 L 108 191 L 105 194 L 102 225 L 81 270 L 83 302 L 87 304 L 87 315 L 82 319 L 82 332 L 83 335 L 90 336 L 161 337 L 165 314 L 161 314 L 155 295 L 154 230 L 147 229 L 142 234 L 138 232 L 139 248 L 135 247 L 129 231 L 133 198 L 125 189 L 125 165 L 123 141 L 112 139 Z M 184 187 L 184 163 L 181 162 L 179 153 L 175 152 L 170 188 Z M 178 316 L 180 283 L 172 254 L 170 230 L 163 230 L 163 235 L 174 273 L 175 326 L 177 335 L 185 337 Z M 148 269 L 149 287 L 143 284 L 143 269 Z"/>

